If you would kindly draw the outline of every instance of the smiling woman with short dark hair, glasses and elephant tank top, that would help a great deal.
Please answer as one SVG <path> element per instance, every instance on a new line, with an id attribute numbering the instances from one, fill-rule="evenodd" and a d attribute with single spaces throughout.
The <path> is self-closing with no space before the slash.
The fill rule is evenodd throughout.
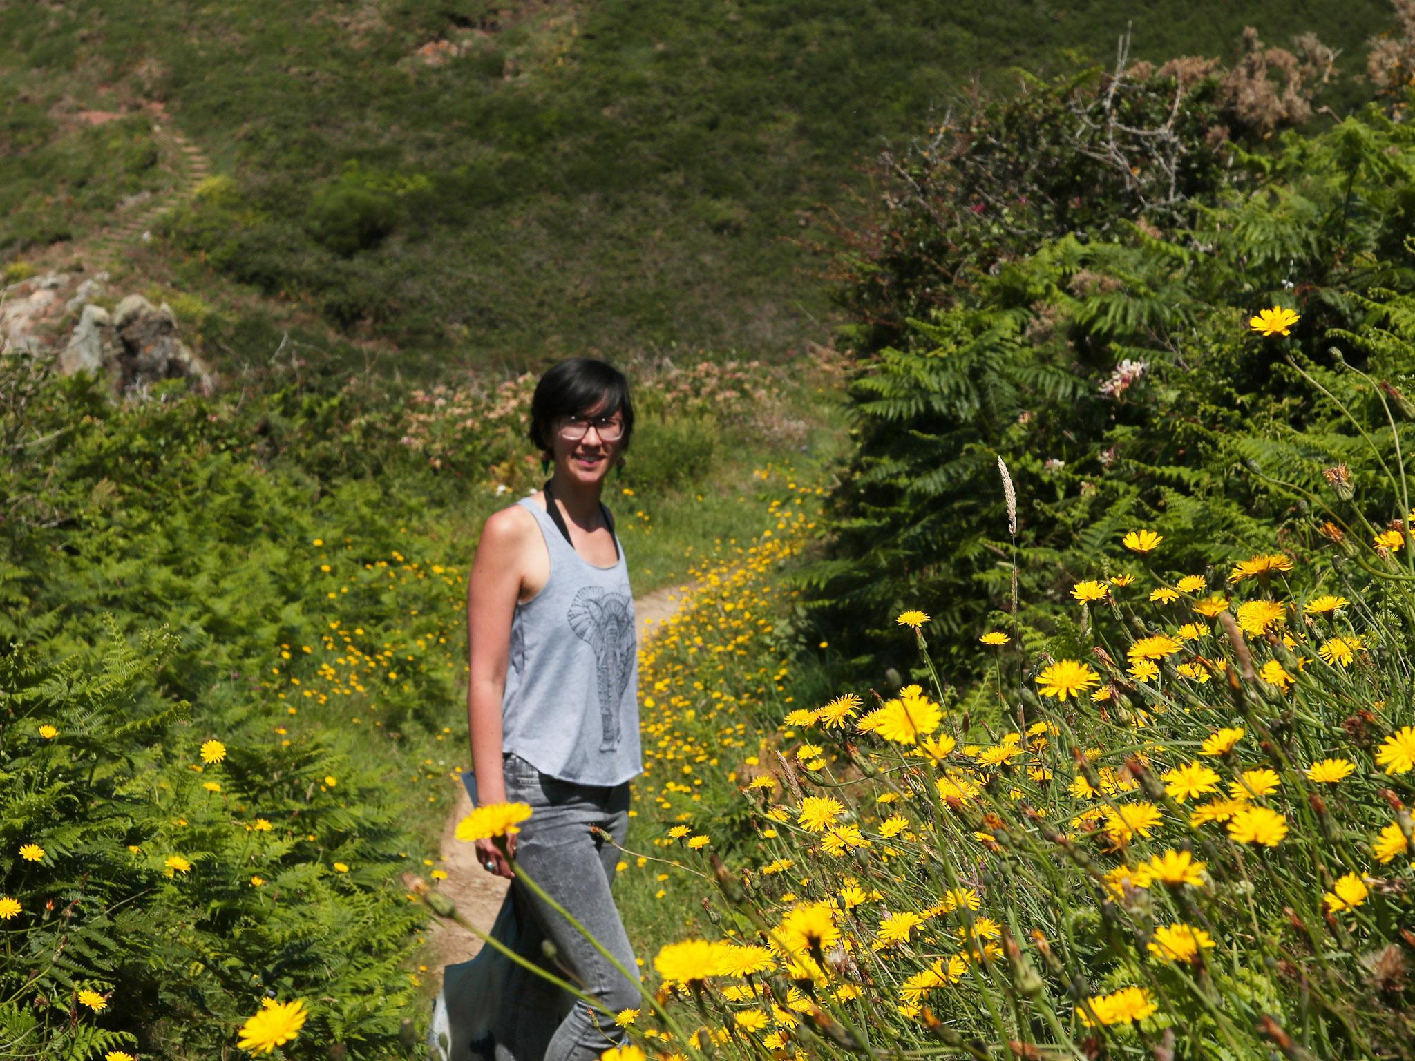
<path id="1" fill-rule="evenodd" d="M 553 461 L 555 472 L 541 491 L 487 519 L 467 589 L 477 799 L 531 806 L 508 853 L 630 972 L 634 951 L 610 894 L 618 852 L 590 826 L 624 843 L 628 782 L 644 770 L 634 597 L 600 502 L 633 430 L 628 381 L 618 369 L 573 358 L 548 371 L 531 402 L 531 441 L 542 468 Z M 515 907 L 522 955 L 611 1014 L 640 1003 L 637 983 L 516 884 L 494 843 L 478 842 L 477 856 L 485 871 L 512 880 L 505 901 Z M 498 1061 L 593 1061 L 623 1043 L 603 1011 L 570 1004 L 519 966 L 514 976 L 494 1028 Z"/>

